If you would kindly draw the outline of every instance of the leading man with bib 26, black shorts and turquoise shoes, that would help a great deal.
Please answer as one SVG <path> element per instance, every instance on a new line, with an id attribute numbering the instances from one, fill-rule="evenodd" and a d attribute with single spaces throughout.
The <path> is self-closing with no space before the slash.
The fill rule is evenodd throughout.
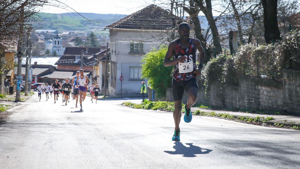
<path id="1" fill-rule="evenodd" d="M 204 62 L 204 50 L 198 39 L 189 38 L 190 25 L 186 22 L 179 24 L 179 38 L 172 41 L 165 54 L 164 66 L 174 65 L 172 93 L 175 105 L 173 112 L 175 131 L 173 141 L 180 141 L 180 118 L 182 109 L 182 97 L 184 90 L 188 93 L 187 104 L 184 106 L 184 121 L 192 121 L 191 106 L 196 103 L 198 84 L 196 76 L 201 74 Z M 200 52 L 199 66 L 196 67 L 196 51 Z M 172 60 L 170 60 L 173 58 Z"/>

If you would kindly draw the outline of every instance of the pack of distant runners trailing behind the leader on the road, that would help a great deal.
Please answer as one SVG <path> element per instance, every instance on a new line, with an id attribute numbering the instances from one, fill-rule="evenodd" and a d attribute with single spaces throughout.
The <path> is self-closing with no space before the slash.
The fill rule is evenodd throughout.
<path id="1" fill-rule="evenodd" d="M 92 82 L 92 85 L 88 87 L 88 84 L 90 83 L 90 79 L 84 75 L 83 69 L 80 69 L 79 71 L 76 72 L 76 76 L 70 80 L 69 78 L 65 79 L 65 82 L 62 84 L 56 79 L 55 83 L 48 85 L 46 83 L 45 86 L 42 86 L 40 84 L 37 87 L 38 90 L 38 97 L 40 98 L 41 101 L 41 95 L 42 93 L 46 93 L 46 101 L 49 99 L 49 92 L 52 97 L 52 93 L 54 95 L 54 103 L 58 100 L 59 95 L 62 95 L 62 100 L 63 103 L 65 102 L 65 105 L 70 102 L 70 94 L 73 97 L 73 100 L 76 100 L 76 107 L 78 103 L 78 98 L 79 98 L 79 103 L 80 103 L 80 110 L 82 109 L 82 102 L 86 98 L 86 92 L 88 91 L 88 88 L 90 88 L 90 94 L 91 94 L 91 101 L 93 103 L 93 98 L 96 100 L 98 99 L 98 94 L 99 94 L 99 87 L 98 84 L 95 85 L 94 82 Z"/>

